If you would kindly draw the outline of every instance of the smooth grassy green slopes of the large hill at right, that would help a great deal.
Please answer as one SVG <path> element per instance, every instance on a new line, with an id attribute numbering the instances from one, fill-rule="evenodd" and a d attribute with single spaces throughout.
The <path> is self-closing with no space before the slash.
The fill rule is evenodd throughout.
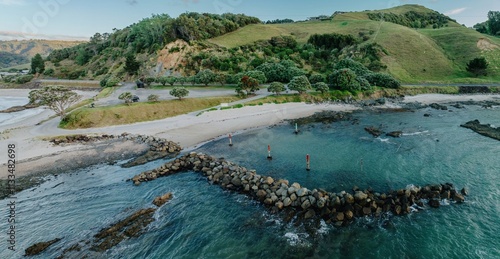
<path id="1" fill-rule="evenodd" d="M 369 34 L 370 39 L 363 44 L 381 45 L 387 51 L 387 55 L 382 57 L 387 72 L 403 82 L 500 80 L 500 38 L 480 34 L 452 20 L 437 29 L 430 25 L 414 29 L 392 22 L 371 20 L 368 15 L 403 15 L 408 12 L 436 14 L 423 6 L 404 5 L 385 10 L 338 14 L 328 21 L 250 25 L 210 39 L 209 42 L 234 48 L 280 35 L 293 36 L 299 43 L 306 43 L 312 34 Z M 481 79 L 470 78 L 470 74 L 465 70 L 466 64 L 479 56 L 484 56 L 490 64 L 488 76 Z"/>

